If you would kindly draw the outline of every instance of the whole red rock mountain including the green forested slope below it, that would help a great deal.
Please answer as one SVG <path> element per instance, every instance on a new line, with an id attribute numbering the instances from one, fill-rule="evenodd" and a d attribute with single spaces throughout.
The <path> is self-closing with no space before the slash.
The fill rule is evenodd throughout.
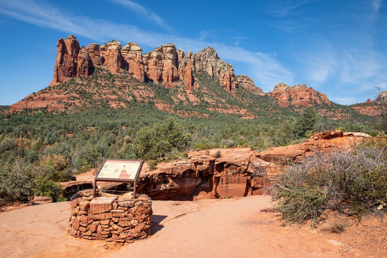
<path id="1" fill-rule="evenodd" d="M 61 200 L 57 182 L 104 158 L 151 165 L 184 159 L 185 147 L 262 151 L 324 130 L 380 130 L 375 118 L 306 85 L 265 94 L 213 48 L 184 54 L 166 44 L 142 55 L 118 41 L 80 48 L 74 36 L 57 47 L 53 82 L 1 109 L 0 203 L 33 194 Z"/>

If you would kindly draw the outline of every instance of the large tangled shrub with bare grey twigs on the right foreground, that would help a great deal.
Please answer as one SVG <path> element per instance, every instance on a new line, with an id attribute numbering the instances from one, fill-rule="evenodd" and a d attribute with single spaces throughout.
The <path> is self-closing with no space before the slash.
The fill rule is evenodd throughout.
<path id="1" fill-rule="evenodd" d="M 387 202 L 385 154 L 385 147 L 365 142 L 351 151 L 317 153 L 290 164 L 274 185 L 275 210 L 286 223 L 310 220 L 313 225 L 329 210 L 359 219 L 376 211 Z"/>

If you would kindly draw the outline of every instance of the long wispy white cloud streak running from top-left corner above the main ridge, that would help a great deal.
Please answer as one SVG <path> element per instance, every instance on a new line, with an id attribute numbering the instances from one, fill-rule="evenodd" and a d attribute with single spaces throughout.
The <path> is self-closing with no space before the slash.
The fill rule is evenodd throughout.
<path id="1" fill-rule="evenodd" d="M 145 31 L 132 25 L 92 19 L 86 16 L 74 16 L 66 10 L 58 10 L 48 3 L 35 1 L 4 1 L 0 7 L 0 15 L 75 36 L 83 36 L 100 43 L 116 39 L 124 44 L 135 41 L 140 46 L 154 48 L 173 42 L 178 48 L 182 47 L 194 52 L 212 46 L 221 58 L 244 63 L 250 70 L 250 74 L 247 74 L 264 91 L 271 91 L 277 82 L 293 81 L 293 74 L 276 59 L 274 54 L 252 52 L 238 46 L 205 41 L 205 34 L 199 38 L 182 38 L 173 34 Z"/>

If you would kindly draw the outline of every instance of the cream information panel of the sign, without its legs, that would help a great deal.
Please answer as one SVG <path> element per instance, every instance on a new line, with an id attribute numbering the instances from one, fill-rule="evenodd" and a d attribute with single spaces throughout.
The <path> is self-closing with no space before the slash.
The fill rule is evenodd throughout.
<path id="1" fill-rule="evenodd" d="M 121 179 L 135 181 L 142 167 L 141 160 L 107 159 L 96 179 Z"/>

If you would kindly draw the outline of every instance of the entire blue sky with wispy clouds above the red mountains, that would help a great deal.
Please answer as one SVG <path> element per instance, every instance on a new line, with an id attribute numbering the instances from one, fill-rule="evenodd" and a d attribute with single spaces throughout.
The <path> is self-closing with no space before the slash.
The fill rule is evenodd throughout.
<path id="1" fill-rule="evenodd" d="M 305 83 L 341 104 L 387 89 L 387 2 L 0 0 L 0 104 L 45 88 L 56 43 L 207 46 L 264 92 Z"/>

